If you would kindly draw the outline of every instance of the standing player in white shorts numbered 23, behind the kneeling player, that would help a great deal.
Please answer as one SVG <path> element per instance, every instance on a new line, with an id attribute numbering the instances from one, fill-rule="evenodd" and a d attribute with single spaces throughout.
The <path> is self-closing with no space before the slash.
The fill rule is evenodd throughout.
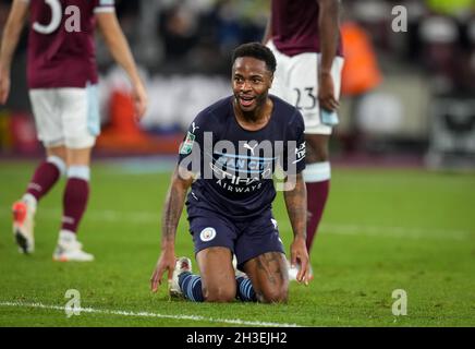
<path id="1" fill-rule="evenodd" d="M 272 0 L 264 36 L 277 59 L 270 93 L 294 105 L 305 121 L 308 253 L 330 188 L 328 143 L 338 123 L 343 67 L 339 8 L 339 0 Z"/>

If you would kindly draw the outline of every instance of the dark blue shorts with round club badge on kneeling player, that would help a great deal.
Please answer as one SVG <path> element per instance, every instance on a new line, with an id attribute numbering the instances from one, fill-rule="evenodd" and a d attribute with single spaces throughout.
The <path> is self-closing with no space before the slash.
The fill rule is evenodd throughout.
<path id="1" fill-rule="evenodd" d="M 240 269 L 245 262 L 263 253 L 284 253 L 277 221 L 270 210 L 254 219 L 231 221 L 215 212 L 200 209 L 188 220 L 195 254 L 208 248 L 228 248 L 235 254 Z"/>

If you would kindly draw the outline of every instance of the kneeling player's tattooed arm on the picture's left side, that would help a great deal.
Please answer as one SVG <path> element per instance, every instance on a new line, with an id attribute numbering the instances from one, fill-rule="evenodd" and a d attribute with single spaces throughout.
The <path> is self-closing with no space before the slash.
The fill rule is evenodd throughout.
<path id="1" fill-rule="evenodd" d="M 173 275 L 175 264 L 174 241 L 176 227 L 183 212 L 186 193 L 193 183 L 192 172 L 184 168 L 176 167 L 168 190 L 163 215 L 161 218 L 161 253 L 157 266 L 150 278 L 151 291 L 156 292 L 161 285 L 165 272 L 168 272 L 168 279 Z"/>

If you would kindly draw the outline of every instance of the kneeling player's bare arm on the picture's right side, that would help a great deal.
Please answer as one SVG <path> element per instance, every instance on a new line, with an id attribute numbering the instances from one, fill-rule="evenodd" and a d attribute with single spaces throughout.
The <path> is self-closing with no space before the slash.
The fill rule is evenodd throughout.
<path id="1" fill-rule="evenodd" d="M 297 274 L 297 281 L 308 284 L 308 252 L 305 244 L 307 232 L 307 190 L 302 178 L 302 173 L 289 174 L 285 184 L 291 190 L 283 193 L 287 212 L 292 225 L 294 234 L 291 244 L 291 264 L 301 266 Z"/>

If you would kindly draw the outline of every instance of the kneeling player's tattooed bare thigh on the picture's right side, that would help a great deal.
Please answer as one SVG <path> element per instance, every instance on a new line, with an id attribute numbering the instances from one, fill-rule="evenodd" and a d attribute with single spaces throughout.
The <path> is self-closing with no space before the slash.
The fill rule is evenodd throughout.
<path id="1" fill-rule="evenodd" d="M 256 299 L 264 303 L 287 302 L 289 296 L 289 276 L 285 255 L 280 252 L 267 252 L 244 264 Z"/>

